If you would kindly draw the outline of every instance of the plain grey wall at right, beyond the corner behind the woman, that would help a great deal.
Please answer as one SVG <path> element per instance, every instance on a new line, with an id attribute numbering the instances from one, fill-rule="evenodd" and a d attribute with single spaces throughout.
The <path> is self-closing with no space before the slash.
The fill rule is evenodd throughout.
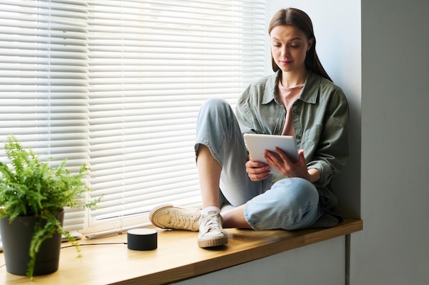
<path id="1" fill-rule="evenodd" d="M 429 284 L 429 1 L 362 1 L 364 230 L 352 285 Z"/>

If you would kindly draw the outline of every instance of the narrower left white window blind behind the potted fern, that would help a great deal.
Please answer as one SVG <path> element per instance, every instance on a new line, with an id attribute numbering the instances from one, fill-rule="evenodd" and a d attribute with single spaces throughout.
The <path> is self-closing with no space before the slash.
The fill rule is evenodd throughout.
<path id="1" fill-rule="evenodd" d="M 86 1 L 0 1 L 0 159 L 14 134 L 42 159 L 87 162 Z M 64 226 L 83 228 L 84 211 Z"/>

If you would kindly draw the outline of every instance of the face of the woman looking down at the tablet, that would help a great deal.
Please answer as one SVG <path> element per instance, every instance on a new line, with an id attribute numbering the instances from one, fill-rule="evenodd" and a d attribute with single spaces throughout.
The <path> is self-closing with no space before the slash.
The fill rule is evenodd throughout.
<path id="1" fill-rule="evenodd" d="M 307 40 L 304 31 L 291 25 L 274 27 L 270 38 L 274 62 L 283 72 L 305 70 L 307 51 L 313 39 Z"/>

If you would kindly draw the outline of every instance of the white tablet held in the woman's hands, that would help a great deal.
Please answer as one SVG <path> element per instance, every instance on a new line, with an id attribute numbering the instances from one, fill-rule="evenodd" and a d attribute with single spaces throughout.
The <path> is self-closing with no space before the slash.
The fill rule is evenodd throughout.
<path id="1" fill-rule="evenodd" d="M 265 150 L 275 152 L 275 147 L 286 152 L 286 155 L 291 161 L 298 161 L 298 150 L 295 137 L 290 135 L 261 135 L 254 133 L 245 133 L 243 137 L 247 150 L 249 150 L 250 157 L 252 157 L 252 161 L 266 163 L 264 158 Z M 271 167 L 271 174 L 280 173 Z"/>

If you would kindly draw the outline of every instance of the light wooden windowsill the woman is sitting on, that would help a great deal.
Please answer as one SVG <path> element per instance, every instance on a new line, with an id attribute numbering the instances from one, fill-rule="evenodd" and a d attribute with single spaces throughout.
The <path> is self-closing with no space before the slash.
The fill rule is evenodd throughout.
<path id="1" fill-rule="evenodd" d="M 62 248 L 57 272 L 35 276 L 30 281 L 28 277 L 7 273 L 3 266 L 0 284 L 167 284 L 362 229 L 360 219 L 345 219 L 333 228 L 317 230 L 226 229 L 228 245 L 212 249 L 197 246 L 197 232 L 158 230 L 158 248 L 147 252 L 127 249 L 127 234 L 83 239 L 79 241 L 83 257 L 76 258 L 74 247 Z M 62 247 L 66 245 L 69 243 Z M 2 264 L 4 257 L 0 254 Z"/>

